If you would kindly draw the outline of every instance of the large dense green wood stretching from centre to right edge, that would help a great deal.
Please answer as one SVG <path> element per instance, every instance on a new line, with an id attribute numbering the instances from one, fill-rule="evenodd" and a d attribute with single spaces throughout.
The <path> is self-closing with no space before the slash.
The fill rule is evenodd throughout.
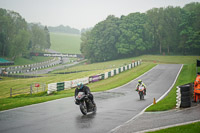
<path id="1" fill-rule="evenodd" d="M 109 15 L 81 40 L 81 52 L 91 62 L 142 54 L 200 55 L 200 3 Z"/>

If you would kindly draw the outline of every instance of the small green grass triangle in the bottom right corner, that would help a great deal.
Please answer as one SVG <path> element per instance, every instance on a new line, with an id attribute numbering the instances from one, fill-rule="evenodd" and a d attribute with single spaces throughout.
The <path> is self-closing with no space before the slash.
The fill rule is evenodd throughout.
<path id="1" fill-rule="evenodd" d="M 199 133 L 199 132 L 200 132 L 200 122 L 195 122 L 192 124 L 171 127 L 148 133 Z"/>

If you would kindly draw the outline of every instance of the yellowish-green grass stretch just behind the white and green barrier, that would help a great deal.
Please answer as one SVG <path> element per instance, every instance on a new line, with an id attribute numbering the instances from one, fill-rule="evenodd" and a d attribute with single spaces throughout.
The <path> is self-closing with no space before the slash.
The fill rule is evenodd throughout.
<path id="1" fill-rule="evenodd" d="M 82 64 L 75 67 L 70 67 L 62 71 L 55 71 L 52 74 L 44 74 L 45 77 L 39 78 L 30 78 L 30 79 L 7 79 L 0 80 L 0 98 L 9 97 L 10 88 L 30 88 L 30 85 L 34 82 L 42 82 L 45 84 L 56 83 L 62 81 L 70 81 L 78 78 L 89 77 L 96 74 L 107 72 L 111 69 L 117 68 L 118 66 L 123 66 L 125 64 L 131 63 L 133 58 L 128 58 L 124 60 L 115 60 L 102 63 L 94 64 Z M 102 69 L 101 69 L 102 68 Z M 71 74 L 55 74 L 56 72 L 71 72 L 71 71 L 83 71 L 83 70 L 93 70 L 93 71 L 84 71 L 80 73 L 71 73 Z"/>

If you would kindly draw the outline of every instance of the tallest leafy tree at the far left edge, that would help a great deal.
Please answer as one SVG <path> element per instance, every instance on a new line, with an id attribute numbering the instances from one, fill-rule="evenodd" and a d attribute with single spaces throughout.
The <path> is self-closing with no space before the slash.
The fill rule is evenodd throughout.
<path id="1" fill-rule="evenodd" d="M 27 23 L 20 14 L 5 9 L 0 9 L 0 23 L 0 55 L 10 56 L 14 60 L 27 48 Z M 20 47 L 21 45 L 24 47 Z"/>

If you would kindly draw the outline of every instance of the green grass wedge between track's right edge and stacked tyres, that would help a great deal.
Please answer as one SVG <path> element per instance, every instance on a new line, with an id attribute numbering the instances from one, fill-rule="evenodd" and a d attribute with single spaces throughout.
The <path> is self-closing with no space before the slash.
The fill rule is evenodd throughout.
<path id="1" fill-rule="evenodd" d="M 187 83 L 194 82 L 196 78 L 196 67 L 195 64 L 185 64 L 182 71 L 169 94 L 157 104 L 154 104 L 146 109 L 149 111 L 165 111 L 173 109 L 176 106 L 176 87 Z"/>

